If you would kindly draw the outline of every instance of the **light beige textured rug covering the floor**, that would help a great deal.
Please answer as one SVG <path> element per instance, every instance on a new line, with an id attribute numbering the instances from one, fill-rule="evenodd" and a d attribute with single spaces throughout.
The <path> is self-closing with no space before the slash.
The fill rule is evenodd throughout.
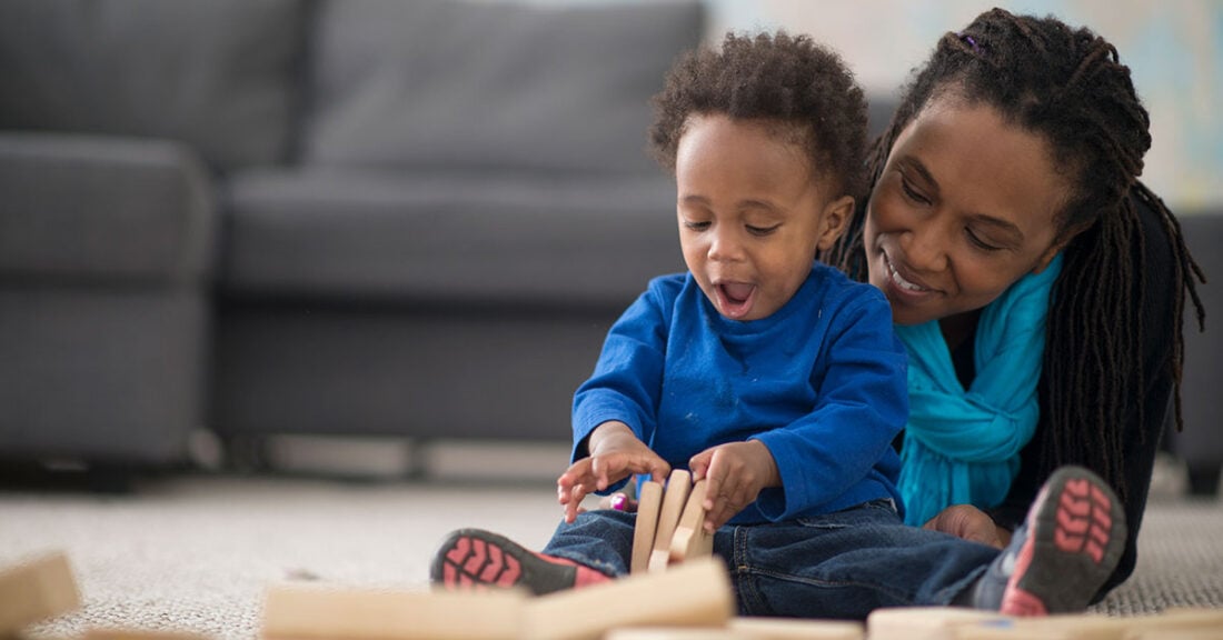
<path id="1" fill-rule="evenodd" d="M 484 526 L 539 547 L 560 511 L 547 482 L 516 486 L 185 475 L 130 495 L 0 490 L 0 565 L 67 552 L 84 606 L 28 629 L 258 638 L 262 598 L 292 581 L 423 589 L 434 546 Z M 1223 503 L 1151 503 L 1135 575 L 1096 611 L 1223 606 Z"/>

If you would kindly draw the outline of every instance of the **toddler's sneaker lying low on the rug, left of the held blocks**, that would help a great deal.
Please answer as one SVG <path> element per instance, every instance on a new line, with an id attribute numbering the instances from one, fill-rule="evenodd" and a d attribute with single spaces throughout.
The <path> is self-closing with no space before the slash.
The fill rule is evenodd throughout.
<path id="1" fill-rule="evenodd" d="M 545 556 L 483 529 L 460 529 L 433 556 L 429 580 L 450 591 L 526 587 L 541 596 L 608 581 L 574 561 Z"/>

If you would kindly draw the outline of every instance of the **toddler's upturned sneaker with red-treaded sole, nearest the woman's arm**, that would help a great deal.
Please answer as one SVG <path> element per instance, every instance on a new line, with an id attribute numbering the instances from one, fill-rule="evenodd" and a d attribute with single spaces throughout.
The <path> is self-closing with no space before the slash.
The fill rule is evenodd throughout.
<path id="1" fill-rule="evenodd" d="M 1117 568 L 1125 536 L 1125 511 L 1108 484 L 1063 467 L 978 580 L 974 605 L 1010 616 L 1082 612 Z"/>

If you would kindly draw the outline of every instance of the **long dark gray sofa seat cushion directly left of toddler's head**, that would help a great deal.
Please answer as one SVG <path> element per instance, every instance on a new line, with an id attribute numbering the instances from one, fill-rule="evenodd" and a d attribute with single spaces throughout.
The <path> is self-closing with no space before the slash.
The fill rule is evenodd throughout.
<path id="1" fill-rule="evenodd" d="M 231 293 L 619 308 L 684 269 L 660 173 L 248 171 L 226 188 Z"/>

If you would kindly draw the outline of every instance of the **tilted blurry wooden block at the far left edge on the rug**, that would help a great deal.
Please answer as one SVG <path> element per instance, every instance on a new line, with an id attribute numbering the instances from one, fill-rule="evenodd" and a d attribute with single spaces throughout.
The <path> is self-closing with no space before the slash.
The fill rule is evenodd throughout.
<path id="1" fill-rule="evenodd" d="M 0 572 L 0 636 L 81 606 L 72 567 L 62 552 Z"/>

